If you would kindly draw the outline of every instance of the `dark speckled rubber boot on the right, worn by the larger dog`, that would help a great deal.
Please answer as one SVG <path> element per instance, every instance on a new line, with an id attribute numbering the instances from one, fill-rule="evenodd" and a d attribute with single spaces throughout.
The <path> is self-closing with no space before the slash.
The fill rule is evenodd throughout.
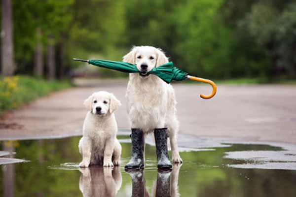
<path id="1" fill-rule="evenodd" d="M 154 130 L 157 168 L 172 168 L 167 144 L 167 128 Z"/>

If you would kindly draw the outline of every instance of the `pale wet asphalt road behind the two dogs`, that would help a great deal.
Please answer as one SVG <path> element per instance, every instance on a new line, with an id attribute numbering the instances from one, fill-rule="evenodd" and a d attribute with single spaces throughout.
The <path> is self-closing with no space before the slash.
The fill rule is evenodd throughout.
<path id="1" fill-rule="evenodd" d="M 82 81 L 79 84 L 83 85 Z M 32 139 L 80 135 L 86 109 L 82 102 L 93 92 L 109 91 L 121 100 L 115 112 L 119 129 L 129 129 L 127 81 L 93 81 L 37 99 L 0 120 L 0 139 Z M 210 85 L 173 84 L 180 133 L 234 137 L 248 141 L 296 143 L 296 86 L 219 85 L 213 99 Z"/>

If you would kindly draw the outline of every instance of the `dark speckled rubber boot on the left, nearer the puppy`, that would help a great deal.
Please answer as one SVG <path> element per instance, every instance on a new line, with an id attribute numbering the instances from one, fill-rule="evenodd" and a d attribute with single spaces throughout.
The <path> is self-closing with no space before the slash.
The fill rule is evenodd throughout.
<path id="1" fill-rule="evenodd" d="M 144 167 L 144 139 L 143 131 L 140 129 L 132 129 L 132 158 L 125 165 L 125 168 L 143 168 Z"/>

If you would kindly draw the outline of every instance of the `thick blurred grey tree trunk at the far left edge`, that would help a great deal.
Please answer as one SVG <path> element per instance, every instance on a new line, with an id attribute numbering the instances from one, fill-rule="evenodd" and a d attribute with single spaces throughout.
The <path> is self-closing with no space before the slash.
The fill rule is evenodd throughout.
<path id="1" fill-rule="evenodd" d="M 13 75 L 13 32 L 12 32 L 12 0 L 2 0 L 1 5 L 1 73 L 3 76 Z"/>

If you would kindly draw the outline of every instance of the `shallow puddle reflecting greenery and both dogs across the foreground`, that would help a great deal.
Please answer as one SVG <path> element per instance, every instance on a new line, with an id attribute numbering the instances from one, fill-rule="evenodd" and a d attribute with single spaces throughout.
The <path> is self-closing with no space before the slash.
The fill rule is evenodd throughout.
<path id="1" fill-rule="evenodd" d="M 295 197 L 296 194 L 296 145 L 181 135 L 178 139 L 183 147 L 180 149 L 185 150 L 180 153 L 183 165 L 175 165 L 171 171 L 158 171 L 155 147 L 147 145 L 145 169 L 126 172 L 124 165 L 130 159 L 131 144 L 127 143 L 128 136 L 118 138 L 122 145 L 120 167 L 84 169 L 78 167 L 79 136 L 3 141 L 0 158 L 30 162 L 1 165 L 0 194 L 4 197 Z M 153 144 L 153 140 L 148 138 L 148 144 Z"/>

